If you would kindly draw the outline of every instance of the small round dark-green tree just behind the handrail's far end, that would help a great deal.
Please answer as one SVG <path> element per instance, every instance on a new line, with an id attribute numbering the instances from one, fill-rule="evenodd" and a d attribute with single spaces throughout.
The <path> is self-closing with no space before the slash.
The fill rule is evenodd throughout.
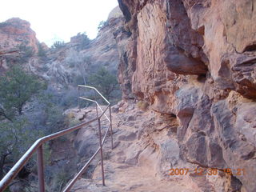
<path id="1" fill-rule="evenodd" d="M 118 90 L 118 79 L 115 75 L 110 74 L 104 67 L 100 68 L 96 74 L 89 77 L 89 84 L 95 86 L 106 98 L 110 98 L 110 94 L 114 90 Z"/>

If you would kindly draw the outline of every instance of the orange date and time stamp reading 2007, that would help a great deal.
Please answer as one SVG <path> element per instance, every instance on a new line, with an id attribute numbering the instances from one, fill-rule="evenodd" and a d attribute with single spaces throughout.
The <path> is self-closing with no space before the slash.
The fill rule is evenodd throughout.
<path id="1" fill-rule="evenodd" d="M 245 175 L 246 170 L 245 169 L 215 169 L 215 168 L 195 168 L 195 169 L 189 169 L 189 168 L 171 168 L 169 171 L 169 175 L 174 176 L 174 175 L 186 175 L 186 174 L 196 174 L 196 175 L 217 175 L 219 171 L 222 171 L 226 174 L 233 174 L 234 176 L 238 175 Z"/>

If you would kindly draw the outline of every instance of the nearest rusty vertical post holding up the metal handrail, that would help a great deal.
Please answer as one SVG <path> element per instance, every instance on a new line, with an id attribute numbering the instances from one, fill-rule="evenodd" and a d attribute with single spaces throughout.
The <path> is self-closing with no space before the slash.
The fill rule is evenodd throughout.
<path id="1" fill-rule="evenodd" d="M 39 192 L 45 192 L 42 145 L 38 147 L 38 183 Z"/>

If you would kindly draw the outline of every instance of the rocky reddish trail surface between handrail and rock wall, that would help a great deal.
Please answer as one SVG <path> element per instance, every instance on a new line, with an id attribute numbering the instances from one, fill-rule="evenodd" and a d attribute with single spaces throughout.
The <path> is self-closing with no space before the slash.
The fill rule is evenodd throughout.
<path id="1" fill-rule="evenodd" d="M 168 170 L 174 166 L 195 167 L 178 160 L 177 124 L 173 118 L 153 110 L 139 110 L 134 103 L 122 105 L 113 109 L 114 149 L 111 150 L 110 137 L 103 147 L 106 186 L 102 186 L 98 156 L 92 178 L 79 179 L 71 191 L 202 191 L 196 183 L 205 182 L 203 177 L 193 182 L 190 173 L 168 175 Z M 94 109 L 87 111 L 87 117 L 95 113 Z M 106 121 L 102 121 L 102 125 L 104 132 Z M 160 148 L 165 148 L 166 152 L 162 153 Z M 205 191 L 214 190 L 210 186 L 210 190 Z"/>

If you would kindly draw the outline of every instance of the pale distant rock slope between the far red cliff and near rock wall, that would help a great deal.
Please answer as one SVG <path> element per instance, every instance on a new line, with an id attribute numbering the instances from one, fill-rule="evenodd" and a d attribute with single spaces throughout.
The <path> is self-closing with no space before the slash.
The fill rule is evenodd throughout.
<path id="1" fill-rule="evenodd" d="M 106 67 L 110 73 L 117 74 L 119 54 L 113 33 L 118 26 L 123 26 L 123 23 L 122 12 L 116 8 L 106 24 L 99 30 L 97 38 L 88 42 L 86 46 L 81 48 L 83 37 L 82 34 L 78 34 L 61 49 L 49 51 L 49 60 L 39 65 L 46 68 L 42 75 L 51 82 L 55 82 L 56 86 L 61 87 L 75 84 L 74 78 L 95 73 L 102 66 Z M 30 64 L 30 68 L 34 68 L 37 73 L 38 59 L 35 58 L 35 62 L 30 62 Z M 83 82 L 79 83 L 83 84 Z"/>

